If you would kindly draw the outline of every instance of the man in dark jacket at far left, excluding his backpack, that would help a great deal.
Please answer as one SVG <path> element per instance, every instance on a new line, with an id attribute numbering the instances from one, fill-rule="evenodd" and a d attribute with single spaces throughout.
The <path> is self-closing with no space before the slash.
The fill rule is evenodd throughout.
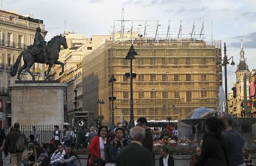
<path id="1" fill-rule="evenodd" d="M 12 165 L 20 165 L 22 160 L 22 152 L 17 151 L 15 148 L 17 140 L 20 138 L 20 124 L 14 123 L 14 130 L 6 136 L 6 143 L 4 144 L 4 152 L 11 154 Z"/>

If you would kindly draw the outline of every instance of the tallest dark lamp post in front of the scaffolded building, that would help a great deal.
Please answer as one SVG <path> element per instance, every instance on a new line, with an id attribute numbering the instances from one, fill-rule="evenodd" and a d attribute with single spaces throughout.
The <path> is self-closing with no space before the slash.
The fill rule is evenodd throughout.
<path id="1" fill-rule="evenodd" d="M 132 79 L 136 78 L 136 73 L 132 73 L 132 60 L 135 59 L 135 55 L 138 55 L 137 52 L 135 52 L 134 45 L 132 44 L 130 46 L 129 51 L 126 55 L 126 60 L 130 60 L 130 73 L 125 73 L 124 75 L 130 79 L 130 122 L 129 127 L 134 127 L 134 96 L 133 96 L 133 90 L 132 90 Z"/>

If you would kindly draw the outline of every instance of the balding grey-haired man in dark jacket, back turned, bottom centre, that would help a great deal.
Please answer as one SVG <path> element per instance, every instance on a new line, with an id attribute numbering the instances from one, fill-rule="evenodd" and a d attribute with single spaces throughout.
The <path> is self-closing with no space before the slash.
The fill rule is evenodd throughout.
<path id="1" fill-rule="evenodd" d="M 117 155 L 117 166 L 153 166 L 153 156 L 147 148 L 142 146 L 145 129 L 139 126 L 130 129 L 132 142 Z"/>

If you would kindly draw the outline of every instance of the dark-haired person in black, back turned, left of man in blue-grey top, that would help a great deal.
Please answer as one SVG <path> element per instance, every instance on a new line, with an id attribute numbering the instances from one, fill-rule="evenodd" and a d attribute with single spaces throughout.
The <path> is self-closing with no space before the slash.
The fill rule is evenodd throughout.
<path id="1" fill-rule="evenodd" d="M 195 165 L 228 165 L 226 142 L 221 138 L 223 130 L 224 124 L 218 118 L 209 117 L 205 121 L 202 153 Z"/>

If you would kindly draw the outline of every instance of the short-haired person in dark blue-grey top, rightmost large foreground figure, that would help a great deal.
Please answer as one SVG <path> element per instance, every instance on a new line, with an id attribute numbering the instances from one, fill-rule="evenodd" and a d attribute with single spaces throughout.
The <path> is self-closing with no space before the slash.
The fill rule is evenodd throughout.
<path id="1" fill-rule="evenodd" d="M 223 121 L 226 129 L 222 136 L 228 141 L 229 165 L 245 166 L 244 157 L 242 157 L 244 139 L 233 129 L 233 120 L 229 114 L 222 114 L 220 119 Z"/>

